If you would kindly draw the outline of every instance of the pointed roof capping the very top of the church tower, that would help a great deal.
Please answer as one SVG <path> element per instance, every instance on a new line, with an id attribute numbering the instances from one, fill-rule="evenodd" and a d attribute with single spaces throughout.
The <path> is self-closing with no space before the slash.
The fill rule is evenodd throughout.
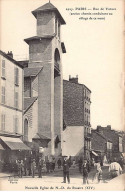
<path id="1" fill-rule="evenodd" d="M 39 12 L 39 11 L 41 11 L 41 12 L 54 11 L 54 12 L 56 12 L 57 16 L 60 18 L 61 24 L 66 24 L 66 22 L 64 21 L 63 17 L 61 16 L 60 12 L 58 11 L 58 9 L 50 2 L 42 5 L 41 7 L 35 9 L 34 11 L 32 11 L 32 14 L 35 16 L 35 18 L 37 18 L 37 12 Z"/>

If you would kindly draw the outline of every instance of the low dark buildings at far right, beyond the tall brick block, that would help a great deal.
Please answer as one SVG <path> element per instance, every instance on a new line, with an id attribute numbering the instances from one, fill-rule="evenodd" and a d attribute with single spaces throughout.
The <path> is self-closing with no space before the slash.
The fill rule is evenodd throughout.
<path id="1" fill-rule="evenodd" d="M 100 141 L 100 136 L 103 138 L 103 141 Z M 113 158 L 120 159 L 123 157 L 123 146 L 122 134 L 112 129 L 111 125 L 107 125 L 106 127 L 98 125 L 95 130 L 92 130 L 92 150 L 97 154 L 99 154 L 100 151 L 99 155 L 102 156 L 102 160 L 104 159 L 104 154 L 108 162 Z M 101 149 L 102 147 L 103 149 Z"/>

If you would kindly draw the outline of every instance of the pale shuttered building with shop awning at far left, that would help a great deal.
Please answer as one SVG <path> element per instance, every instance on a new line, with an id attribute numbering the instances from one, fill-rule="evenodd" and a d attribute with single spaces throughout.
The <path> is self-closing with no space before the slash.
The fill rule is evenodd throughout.
<path id="1" fill-rule="evenodd" d="M 23 139 L 23 66 L 0 51 L 0 159 L 15 160 L 29 150 Z M 6 153 L 6 154 L 5 154 Z"/>

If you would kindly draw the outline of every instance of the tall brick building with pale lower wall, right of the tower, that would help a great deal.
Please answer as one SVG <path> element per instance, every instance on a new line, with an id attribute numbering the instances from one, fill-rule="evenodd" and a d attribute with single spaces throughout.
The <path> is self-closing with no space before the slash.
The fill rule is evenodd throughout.
<path id="1" fill-rule="evenodd" d="M 91 91 L 78 82 L 78 76 L 63 80 L 63 154 L 84 155 L 91 151 Z"/>

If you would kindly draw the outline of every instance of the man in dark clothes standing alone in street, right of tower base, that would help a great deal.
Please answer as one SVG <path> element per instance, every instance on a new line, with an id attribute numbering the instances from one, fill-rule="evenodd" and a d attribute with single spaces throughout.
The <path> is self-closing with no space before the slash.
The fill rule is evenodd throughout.
<path id="1" fill-rule="evenodd" d="M 66 177 L 67 177 L 68 183 L 70 183 L 69 168 L 70 168 L 70 161 L 68 157 L 65 156 L 63 161 L 63 178 L 64 178 L 63 183 L 66 183 Z"/>

